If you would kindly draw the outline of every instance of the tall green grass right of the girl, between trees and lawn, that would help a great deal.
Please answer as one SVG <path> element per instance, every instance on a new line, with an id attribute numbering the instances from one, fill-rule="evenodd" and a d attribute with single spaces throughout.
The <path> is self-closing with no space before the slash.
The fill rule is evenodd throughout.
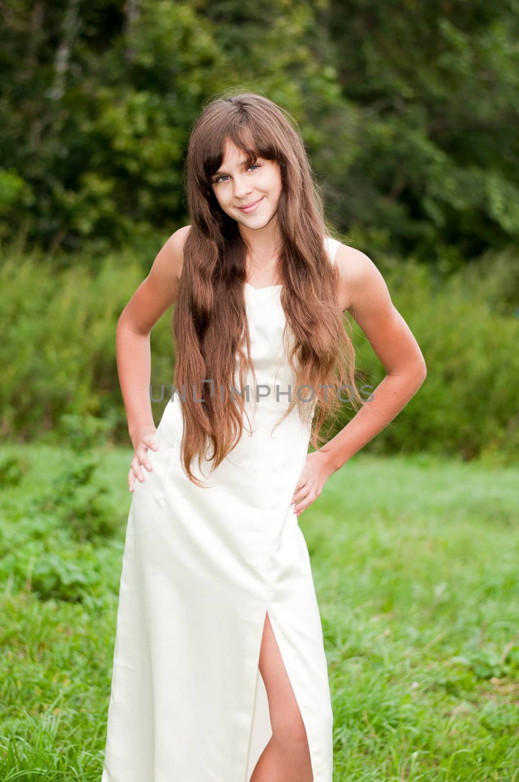
<path id="1" fill-rule="evenodd" d="M 366 450 L 517 459 L 519 265 L 512 253 L 487 254 L 446 279 L 412 260 L 388 260 L 381 271 L 428 374 Z M 363 382 L 377 386 L 384 368 L 356 325 L 355 332 L 358 368 L 370 378 Z M 350 418 L 346 407 L 342 425 Z"/>

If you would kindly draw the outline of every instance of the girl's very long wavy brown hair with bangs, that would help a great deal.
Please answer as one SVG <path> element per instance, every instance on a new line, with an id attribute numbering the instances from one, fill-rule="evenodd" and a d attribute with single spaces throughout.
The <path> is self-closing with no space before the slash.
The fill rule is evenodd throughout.
<path id="1" fill-rule="evenodd" d="M 324 217 L 320 190 L 297 124 L 263 95 L 227 93 L 213 99 L 191 128 L 188 143 L 184 187 L 191 228 L 184 242 L 184 266 L 173 316 L 177 350 L 174 386 L 184 421 L 181 458 L 186 475 L 199 486 L 202 484 L 191 472 L 193 458 L 198 455 L 199 468 L 202 459 L 213 461 L 211 469 L 215 470 L 242 436 L 244 400 L 238 396 L 237 405 L 236 396 L 231 396 L 237 357 L 240 388 L 244 388 L 249 370 L 256 378 L 245 310 L 248 243 L 238 223 L 220 208 L 211 187 L 227 140 L 245 153 L 247 166 L 262 157 L 276 161 L 281 170 L 277 272 L 283 283 L 281 304 L 288 325 L 284 340 L 296 373 L 296 387 L 310 386 L 317 400 L 313 447 L 319 447 L 325 418 L 335 414 L 341 404 L 339 386 L 349 386 L 353 406 L 360 407 L 355 352 L 336 298 L 338 269 L 331 265 L 324 249 L 324 238 L 332 235 L 333 229 Z M 290 329 L 292 344 L 287 339 Z M 276 425 L 296 404 L 310 425 L 313 405 L 299 394 L 292 397 Z M 209 443 L 213 454 L 208 457 Z"/>

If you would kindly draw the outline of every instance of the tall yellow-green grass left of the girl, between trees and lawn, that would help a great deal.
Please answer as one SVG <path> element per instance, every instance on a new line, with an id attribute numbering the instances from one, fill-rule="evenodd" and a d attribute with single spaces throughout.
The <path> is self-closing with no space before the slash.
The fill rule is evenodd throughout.
<path id="1" fill-rule="evenodd" d="M 81 438 L 127 437 L 115 360 L 116 323 L 141 282 L 129 253 L 106 256 L 96 274 L 87 264 L 56 273 L 30 257 L 0 268 L 0 317 L 9 325 L 0 343 L 5 368 L 0 389 L 5 436 L 77 439 L 73 420 L 81 417 Z M 38 335 L 42 338 L 38 339 Z M 159 357 L 152 382 L 172 382 L 173 347 L 166 316 L 152 332 Z M 77 421 L 77 419 L 76 419 Z M 93 422 L 97 434 L 86 432 Z M 77 429 L 77 425 L 76 425 Z M 101 440 L 98 439 L 100 443 Z"/>

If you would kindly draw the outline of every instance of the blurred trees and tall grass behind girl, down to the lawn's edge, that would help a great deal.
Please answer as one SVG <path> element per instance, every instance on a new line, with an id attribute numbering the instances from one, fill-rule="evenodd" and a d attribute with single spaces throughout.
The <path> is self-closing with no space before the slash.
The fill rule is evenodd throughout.
<path id="1" fill-rule="evenodd" d="M 233 88 L 295 117 L 328 217 L 381 269 L 424 353 L 426 383 L 367 450 L 517 457 L 518 31 L 517 0 L 10 2 L 2 434 L 62 438 L 61 415 L 77 414 L 129 442 L 116 321 L 189 221 L 195 118 Z M 157 419 L 171 314 L 152 332 Z M 379 382 L 361 334 L 356 346 Z"/>

